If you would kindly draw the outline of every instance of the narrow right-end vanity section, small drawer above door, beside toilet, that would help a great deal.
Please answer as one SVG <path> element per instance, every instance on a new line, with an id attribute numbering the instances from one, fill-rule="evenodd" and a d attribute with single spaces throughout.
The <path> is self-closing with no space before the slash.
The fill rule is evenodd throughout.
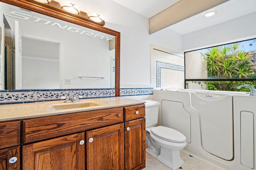
<path id="1" fill-rule="evenodd" d="M 146 166 L 145 105 L 124 107 L 124 121 L 125 169 L 140 170 Z"/>

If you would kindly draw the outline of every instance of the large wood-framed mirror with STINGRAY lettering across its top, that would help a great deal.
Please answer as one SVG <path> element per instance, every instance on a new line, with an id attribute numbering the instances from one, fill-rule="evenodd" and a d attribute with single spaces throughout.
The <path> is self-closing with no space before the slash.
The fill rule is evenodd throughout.
<path id="1" fill-rule="evenodd" d="M 25 0 L 0 1 L 2 90 L 115 88 L 119 96 L 119 32 Z"/>

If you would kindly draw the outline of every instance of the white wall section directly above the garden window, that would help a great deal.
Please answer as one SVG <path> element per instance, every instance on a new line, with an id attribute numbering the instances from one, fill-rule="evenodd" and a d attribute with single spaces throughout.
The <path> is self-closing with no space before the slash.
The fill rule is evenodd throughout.
<path id="1" fill-rule="evenodd" d="M 182 50 L 191 51 L 256 37 L 256 12 L 182 36 Z"/>

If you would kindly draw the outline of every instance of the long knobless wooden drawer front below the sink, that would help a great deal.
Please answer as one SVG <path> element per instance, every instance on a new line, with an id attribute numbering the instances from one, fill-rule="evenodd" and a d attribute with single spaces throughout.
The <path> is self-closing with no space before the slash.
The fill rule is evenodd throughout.
<path id="1" fill-rule="evenodd" d="M 23 121 L 23 141 L 40 141 L 121 123 L 123 120 L 123 107 L 28 119 Z"/>

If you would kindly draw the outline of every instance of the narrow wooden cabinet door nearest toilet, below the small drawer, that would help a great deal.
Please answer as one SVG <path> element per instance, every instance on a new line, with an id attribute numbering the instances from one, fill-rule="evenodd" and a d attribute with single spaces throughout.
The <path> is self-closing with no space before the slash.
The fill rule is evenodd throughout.
<path id="1" fill-rule="evenodd" d="M 145 118 L 125 123 L 125 169 L 139 170 L 146 166 Z"/>

